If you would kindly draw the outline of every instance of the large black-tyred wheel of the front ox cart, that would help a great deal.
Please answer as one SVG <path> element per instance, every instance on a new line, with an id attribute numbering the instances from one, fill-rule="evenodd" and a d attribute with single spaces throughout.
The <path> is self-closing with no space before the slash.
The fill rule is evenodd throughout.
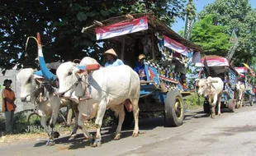
<path id="1" fill-rule="evenodd" d="M 178 90 L 168 92 L 164 104 L 165 126 L 181 126 L 184 120 L 183 95 Z"/>

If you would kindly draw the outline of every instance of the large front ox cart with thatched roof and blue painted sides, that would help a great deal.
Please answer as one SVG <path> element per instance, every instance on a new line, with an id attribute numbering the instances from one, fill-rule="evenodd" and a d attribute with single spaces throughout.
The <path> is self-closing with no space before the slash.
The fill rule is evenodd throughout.
<path id="1" fill-rule="evenodd" d="M 82 33 L 96 33 L 97 40 L 114 48 L 121 60 L 135 67 L 138 56 L 145 54 L 146 80 L 140 83 L 140 112 L 164 112 L 165 126 L 181 126 L 184 119 L 183 97 L 186 67 L 201 48 L 183 39 L 152 14 L 118 16 L 83 28 Z M 111 47 L 118 43 L 119 47 Z M 99 55 L 102 55 L 99 54 Z M 133 122 L 126 111 L 124 125 Z"/>

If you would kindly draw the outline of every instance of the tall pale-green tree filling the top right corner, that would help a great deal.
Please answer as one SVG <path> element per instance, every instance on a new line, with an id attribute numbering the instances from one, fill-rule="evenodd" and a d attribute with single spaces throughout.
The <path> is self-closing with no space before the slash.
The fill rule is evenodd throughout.
<path id="1" fill-rule="evenodd" d="M 233 56 L 234 64 L 250 64 L 252 57 L 255 56 L 256 11 L 252 9 L 249 0 L 216 0 L 201 11 L 200 18 L 208 14 L 216 15 L 214 25 L 227 26 L 228 34 L 235 30 L 239 38 L 239 47 Z"/>

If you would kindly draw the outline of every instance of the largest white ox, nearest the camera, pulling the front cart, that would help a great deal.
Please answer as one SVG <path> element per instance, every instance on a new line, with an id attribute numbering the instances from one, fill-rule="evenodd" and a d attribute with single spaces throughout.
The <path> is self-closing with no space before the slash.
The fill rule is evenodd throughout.
<path id="1" fill-rule="evenodd" d="M 83 65 L 83 62 L 80 63 Z M 88 77 L 91 83 L 91 98 L 80 100 L 78 104 L 78 126 L 82 127 L 83 135 L 93 141 L 92 146 L 100 146 L 102 136 L 100 128 L 107 108 L 116 112 L 119 116 L 118 126 L 114 140 L 119 140 L 121 126 L 125 118 L 124 104 L 131 103 L 135 117 L 135 128 L 132 136 L 139 133 L 139 107 L 140 78 L 138 74 L 126 65 L 119 67 L 100 67 L 97 71 L 85 71 L 79 69 L 72 62 L 64 62 L 57 69 L 59 78 L 59 95 L 67 98 L 78 99 L 83 97 L 88 90 Z M 85 121 L 96 117 L 97 134 L 94 138 L 89 135 Z"/>

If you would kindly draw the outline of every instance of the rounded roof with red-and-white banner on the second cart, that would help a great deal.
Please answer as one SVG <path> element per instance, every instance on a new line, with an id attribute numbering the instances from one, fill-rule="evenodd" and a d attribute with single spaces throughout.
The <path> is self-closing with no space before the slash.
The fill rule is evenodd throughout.
<path id="1" fill-rule="evenodd" d="M 197 63 L 196 67 L 204 67 L 205 59 L 208 67 L 230 67 L 228 59 L 217 55 L 206 55 L 205 57 L 201 57 L 201 63 Z"/>

